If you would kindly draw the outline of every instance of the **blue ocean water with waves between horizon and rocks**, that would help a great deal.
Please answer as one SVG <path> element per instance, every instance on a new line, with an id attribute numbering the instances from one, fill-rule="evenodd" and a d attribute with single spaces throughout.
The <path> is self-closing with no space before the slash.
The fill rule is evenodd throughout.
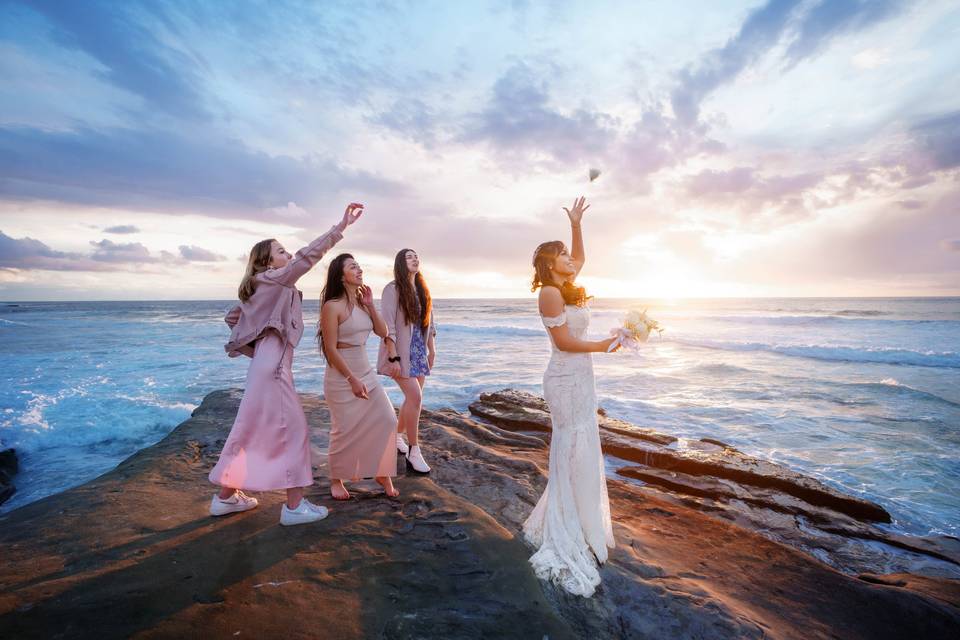
<path id="1" fill-rule="evenodd" d="M 0 302 L 0 448 L 21 472 L 6 512 L 90 480 L 242 386 L 227 358 L 230 301 Z M 305 305 L 307 326 L 316 303 Z M 591 301 L 600 338 L 628 309 L 666 328 L 637 353 L 594 356 L 600 405 L 681 438 L 711 437 L 893 515 L 890 528 L 960 536 L 960 298 Z M 437 300 L 425 405 L 483 391 L 540 394 L 549 343 L 536 301 Z M 371 358 L 376 341 L 368 344 Z M 322 392 L 312 335 L 297 387 Z M 386 379 L 394 402 L 401 395 Z"/>

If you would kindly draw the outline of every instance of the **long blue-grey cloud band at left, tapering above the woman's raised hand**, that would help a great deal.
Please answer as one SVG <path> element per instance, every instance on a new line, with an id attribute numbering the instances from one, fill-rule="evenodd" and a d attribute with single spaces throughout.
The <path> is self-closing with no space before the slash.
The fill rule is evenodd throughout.
<path id="1" fill-rule="evenodd" d="M 12 199 L 262 219 L 278 203 L 319 207 L 341 190 L 404 188 L 329 158 L 258 152 L 215 130 L 0 128 L 0 191 Z"/>

